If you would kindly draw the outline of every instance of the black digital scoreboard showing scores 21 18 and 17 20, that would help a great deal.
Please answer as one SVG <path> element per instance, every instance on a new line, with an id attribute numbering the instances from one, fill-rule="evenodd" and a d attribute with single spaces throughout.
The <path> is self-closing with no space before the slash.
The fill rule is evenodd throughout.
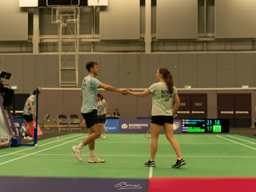
<path id="1" fill-rule="evenodd" d="M 182 132 L 228 133 L 228 119 L 181 119 Z"/>

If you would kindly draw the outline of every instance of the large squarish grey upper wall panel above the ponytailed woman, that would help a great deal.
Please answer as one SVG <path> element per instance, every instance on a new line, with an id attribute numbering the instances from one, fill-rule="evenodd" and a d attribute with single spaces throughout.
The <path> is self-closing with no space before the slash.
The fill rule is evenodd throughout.
<path id="1" fill-rule="evenodd" d="M 196 39 L 197 0 L 157 0 L 157 39 Z"/>

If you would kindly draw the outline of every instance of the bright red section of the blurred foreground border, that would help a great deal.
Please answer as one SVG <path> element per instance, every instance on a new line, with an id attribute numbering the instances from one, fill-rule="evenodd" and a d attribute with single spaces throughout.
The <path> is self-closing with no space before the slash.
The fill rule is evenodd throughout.
<path id="1" fill-rule="evenodd" d="M 155 177 L 149 192 L 255 192 L 256 177 Z"/>

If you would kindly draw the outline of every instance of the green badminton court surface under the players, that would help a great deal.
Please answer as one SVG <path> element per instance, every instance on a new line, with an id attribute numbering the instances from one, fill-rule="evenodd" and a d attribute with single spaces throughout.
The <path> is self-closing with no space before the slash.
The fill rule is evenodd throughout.
<path id="1" fill-rule="evenodd" d="M 39 147 L 12 147 L 0 150 L 0 170 L 5 176 L 143 178 L 150 177 L 255 177 L 256 140 L 240 135 L 175 134 L 187 164 L 173 169 L 177 156 L 160 135 L 156 167 L 144 166 L 150 158 L 150 142 L 139 134 L 106 134 L 95 140 L 95 154 L 105 163 L 88 163 L 89 149 L 79 162 L 72 146 L 88 134 L 72 133 L 40 140 Z"/>

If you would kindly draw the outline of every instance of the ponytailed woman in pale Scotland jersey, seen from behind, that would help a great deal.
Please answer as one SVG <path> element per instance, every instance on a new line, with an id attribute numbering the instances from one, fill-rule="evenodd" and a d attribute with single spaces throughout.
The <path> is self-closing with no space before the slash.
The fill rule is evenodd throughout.
<path id="1" fill-rule="evenodd" d="M 155 167 L 155 156 L 157 151 L 158 137 L 163 126 L 164 134 L 167 140 L 171 143 L 172 148 L 177 154 L 176 164 L 172 168 L 179 168 L 185 165 L 186 161 L 182 158 L 179 143 L 173 137 L 173 116 L 176 114 L 180 100 L 176 88 L 173 86 L 172 73 L 164 67 L 157 70 L 156 79 L 158 83 L 152 84 L 144 92 L 131 92 L 124 90 L 123 95 L 134 95 L 137 97 L 145 97 L 152 93 L 152 118 L 150 124 L 151 131 L 151 158 L 146 162 L 145 166 Z M 172 98 L 175 101 L 172 110 Z"/>

